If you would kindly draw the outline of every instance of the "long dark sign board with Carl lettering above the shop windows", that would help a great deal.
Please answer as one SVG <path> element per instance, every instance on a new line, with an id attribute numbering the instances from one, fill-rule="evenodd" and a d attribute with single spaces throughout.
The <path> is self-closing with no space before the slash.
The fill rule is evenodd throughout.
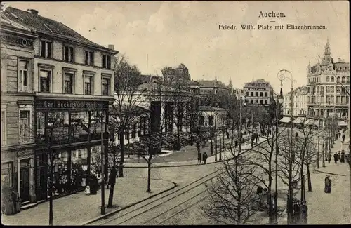
<path id="1" fill-rule="evenodd" d="M 108 109 L 108 102 L 88 100 L 37 100 L 37 109 Z"/>

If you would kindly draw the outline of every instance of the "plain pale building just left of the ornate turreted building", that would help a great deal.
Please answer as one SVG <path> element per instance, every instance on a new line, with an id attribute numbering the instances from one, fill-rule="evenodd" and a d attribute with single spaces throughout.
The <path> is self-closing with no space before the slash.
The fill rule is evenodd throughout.
<path id="1" fill-rule="evenodd" d="M 291 93 L 283 95 L 283 115 L 291 116 Z M 298 87 L 293 90 L 293 116 L 306 116 L 307 114 L 307 87 Z"/>

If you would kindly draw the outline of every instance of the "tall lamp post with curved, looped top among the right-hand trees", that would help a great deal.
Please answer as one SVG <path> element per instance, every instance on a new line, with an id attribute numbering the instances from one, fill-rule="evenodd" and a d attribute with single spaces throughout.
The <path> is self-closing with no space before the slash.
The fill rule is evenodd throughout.
<path id="1" fill-rule="evenodd" d="M 289 76 L 286 76 L 284 73 L 290 74 Z M 283 81 L 290 80 L 290 98 L 291 98 L 291 112 L 290 112 L 290 149 L 289 149 L 289 194 L 288 194 L 288 224 L 291 224 L 293 222 L 293 160 L 295 160 L 295 154 L 293 154 L 293 83 L 296 83 L 296 80 L 293 80 L 293 74 L 287 69 L 281 69 L 279 70 L 277 74 L 278 79 L 280 80 L 280 90 L 281 94 L 283 93 L 282 86 L 283 86 Z"/>

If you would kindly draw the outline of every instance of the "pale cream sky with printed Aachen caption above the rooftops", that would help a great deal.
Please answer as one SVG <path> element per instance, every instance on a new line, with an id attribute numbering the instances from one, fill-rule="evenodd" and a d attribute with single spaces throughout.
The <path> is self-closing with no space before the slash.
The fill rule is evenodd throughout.
<path id="1" fill-rule="evenodd" d="M 280 69 L 292 72 L 293 85 L 305 86 L 307 65 L 324 56 L 350 62 L 348 1 L 109 1 L 11 2 L 34 8 L 87 39 L 125 54 L 142 74 L 158 74 L 180 63 L 193 80 L 218 80 L 242 88 L 253 79 L 269 81 L 278 92 Z M 260 11 L 282 12 L 284 18 L 262 18 Z M 274 20 L 275 22 L 270 22 Z M 242 30 L 251 24 L 255 30 Z M 325 30 L 286 30 L 287 24 L 325 25 Z M 220 30 L 235 25 L 237 30 Z M 272 25 L 272 30 L 258 30 Z M 275 25 L 284 25 L 275 30 Z M 93 29 L 93 28 L 96 29 Z M 90 31 L 89 31 L 90 30 Z M 289 74 L 286 74 L 288 76 Z M 284 81 L 283 90 L 290 88 Z M 285 92 L 284 92 L 285 93 Z"/>

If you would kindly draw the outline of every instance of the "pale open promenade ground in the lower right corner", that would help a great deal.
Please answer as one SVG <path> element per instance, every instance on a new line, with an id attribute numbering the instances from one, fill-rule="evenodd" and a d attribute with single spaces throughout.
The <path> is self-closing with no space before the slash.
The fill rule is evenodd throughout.
<path id="1" fill-rule="evenodd" d="M 339 140 L 340 141 L 340 140 Z M 337 144 L 337 143 L 336 143 Z M 335 152 L 337 150 L 334 145 Z M 305 183 L 305 199 L 308 206 L 308 224 L 350 224 L 351 197 L 350 197 L 350 167 L 347 163 L 326 162 L 326 167 L 311 173 L 312 192 L 308 192 L 308 183 Z M 323 172 L 323 173 L 322 173 Z M 324 193 L 324 178 L 329 173 L 331 178 L 331 194 Z M 300 198 L 300 191 L 298 192 Z M 286 213 L 279 218 L 279 224 L 286 224 Z"/>

